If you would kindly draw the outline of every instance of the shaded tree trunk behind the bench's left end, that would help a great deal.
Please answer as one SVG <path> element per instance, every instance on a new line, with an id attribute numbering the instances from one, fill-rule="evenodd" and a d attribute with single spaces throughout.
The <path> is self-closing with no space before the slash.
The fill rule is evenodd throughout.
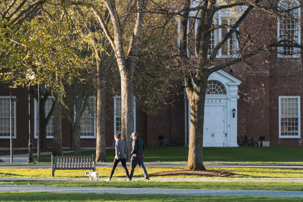
<path id="1" fill-rule="evenodd" d="M 62 149 L 62 127 L 61 127 L 61 105 L 58 103 L 57 99 L 54 102 L 54 138 L 53 138 L 53 155 L 63 156 Z"/>

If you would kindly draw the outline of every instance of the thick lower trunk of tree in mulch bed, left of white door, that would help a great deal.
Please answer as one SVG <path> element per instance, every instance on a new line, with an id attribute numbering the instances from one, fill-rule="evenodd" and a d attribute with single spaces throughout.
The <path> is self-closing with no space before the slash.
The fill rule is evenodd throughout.
<path id="1" fill-rule="evenodd" d="M 186 169 L 190 170 L 206 170 L 203 165 L 203 125 L 207 79 L 208 76 L 199 83 L 200 86 L 195 85 L 192 93 L 188 93 L 188 99 L 191 105 L 191 122 Z"/>

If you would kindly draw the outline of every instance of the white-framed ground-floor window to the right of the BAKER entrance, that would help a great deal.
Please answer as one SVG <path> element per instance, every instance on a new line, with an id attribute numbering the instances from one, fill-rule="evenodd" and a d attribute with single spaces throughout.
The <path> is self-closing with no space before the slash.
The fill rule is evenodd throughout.
<path id="1" fill-rule="evenodd" d="M 279 138 L 300 138 L 300 96 L 279 96 Z"/>

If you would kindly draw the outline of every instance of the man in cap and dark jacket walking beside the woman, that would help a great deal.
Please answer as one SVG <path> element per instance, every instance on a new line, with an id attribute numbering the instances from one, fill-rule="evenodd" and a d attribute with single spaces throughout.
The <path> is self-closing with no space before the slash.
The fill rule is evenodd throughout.
<path id="1" fill-rule="evenodd" d="M 145 180 L 149 180 L 147 171 L 144 166 L 144 154 L 143 151 L 146 149 L 145 143 L 143 140 L 138 138 L 138 133 L 134 132 L 131 135 L 133 139 L 132 143 L 132 158 L 131 158 L 131 167 L 130 167 L 130 173 L 129 173 L 129 180 L 132 180 L 132 176 L 134 174 L 135 167 L 137 164 L 141 167 L 141 170 L 144 174 Z M 128 181 L 128 180 L 127 180 Z"/>

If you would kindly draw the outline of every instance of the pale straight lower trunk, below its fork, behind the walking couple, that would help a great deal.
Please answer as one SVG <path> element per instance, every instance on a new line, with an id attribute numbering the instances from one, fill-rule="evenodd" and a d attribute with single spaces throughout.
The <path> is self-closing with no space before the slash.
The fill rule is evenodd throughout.
<path id="1" fill-rule="evenodd" d="M 122 141 L 126 143 L 129 161 L 132 157 L 133 141 L 130 136 L 134 132 L 134 98 L 132 77 L 125 71 L 121 73 L 121 102 Z"/>

